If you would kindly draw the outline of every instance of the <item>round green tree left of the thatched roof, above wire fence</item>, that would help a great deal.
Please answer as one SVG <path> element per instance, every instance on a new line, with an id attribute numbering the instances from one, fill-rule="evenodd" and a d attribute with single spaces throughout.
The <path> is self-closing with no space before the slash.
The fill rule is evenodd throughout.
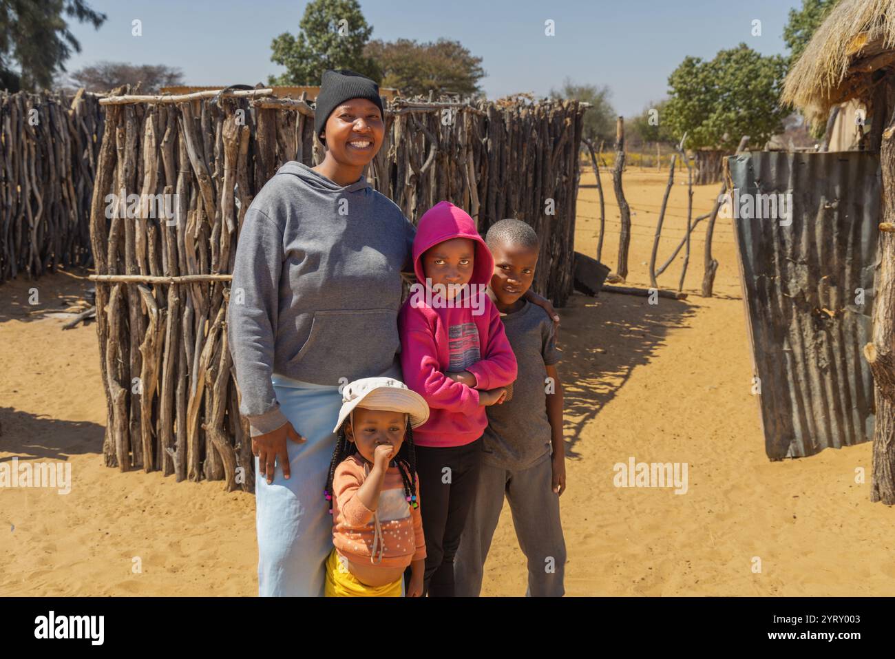
<path id="1" fill-rule="evenodd" d="M 780 107 L 786 60 L 762 56 L 746 44 L 721 50 L 710 62 L 685 57 L 669 76 L 664 121 L 685 147 L 733 151 L 748 135 L 763 144 L 780 132 L 788 114 Z"/>

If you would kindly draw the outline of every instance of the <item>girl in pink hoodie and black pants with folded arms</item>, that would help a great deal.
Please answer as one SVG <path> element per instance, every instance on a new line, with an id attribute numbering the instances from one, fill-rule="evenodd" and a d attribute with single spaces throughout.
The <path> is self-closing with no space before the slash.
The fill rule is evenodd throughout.
<path id="1" fill-rule="evenodd" d="M 494 260 L 473 218 L 441 201 L 413 241 L 417 282 L 398 314 L 407 386 L 429 420 L 414 432 L 426 537 L 423 595 L 454 595 L 454 556 L 475 496 L 485 407 L 503 402 L 516 356 L 486 293 Z"/>

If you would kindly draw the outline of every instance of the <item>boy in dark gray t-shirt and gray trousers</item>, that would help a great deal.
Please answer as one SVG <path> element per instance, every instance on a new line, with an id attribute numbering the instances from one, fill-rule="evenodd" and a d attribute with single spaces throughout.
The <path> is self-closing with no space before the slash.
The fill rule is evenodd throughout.
<path id="1" fill-rule="evenodd" d="M 503 405 L 488 408 L 476 498 L 456 555 L 456 594 L 478 596 L 482 590 L 506 494 L 528 559 L 526 595 L 558 597 L 565 593 L 566 564 L 559 522 L 559 495 L 566 489 L 559 353 L 550 317 L 523 298 L 532 286 L 539 240 L 524 222 L 501 219 L 485 242 L 495 266 L 488 292 L 501 312 L 518 375 Z"/>

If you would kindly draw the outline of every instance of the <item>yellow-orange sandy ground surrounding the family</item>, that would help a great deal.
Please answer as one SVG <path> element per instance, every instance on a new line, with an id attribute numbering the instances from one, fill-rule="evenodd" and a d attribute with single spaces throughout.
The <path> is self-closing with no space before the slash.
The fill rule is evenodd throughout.
<path id="1" fill-rule="evenodd" d="M 645 262 L 666 176 L 626 173 L 631 285 L 648 284 Z M 588 169 L 575 236 L 576 249 L 590 255 L 599 217 L 593 183 Z M 711 208 L 718 187 L 695 189 L 694 215 Z M 611 197 L 602 256 L 614 270 Z M 686 187 L 676 184 L 660 262 L 685 226 Z M 870 445 L 783 462 L 765 457 L 729 220 L 716 227 L 712 299 L 695 295 L 703 235 L 704 223 L 695 232 L 686 301 L 574 295 L 560 311 L 567 594 L 895 594 L 895 510 L 871 503 L 869 484 L 856 482 L 859 467 L 869 481 Z M 677 287 L 680 261 L 660 278 L 662 287 Z M 31 287 L 38 304 L 29 304 Z M 87 287 L 65 273 L 0 287 L 0 461 L 72 466 L 65 495 L 0 489 L 0 595 L 255 595 L 251 494 L 103 466 L 95 325 L 63 331 L 57 315 Z M 613 465 L 629 458 L 686 462 L 686 494 L 615 487 Z M 485 572 L 485 595 L 524 594 L 525 560 L 506 506 Z"/>

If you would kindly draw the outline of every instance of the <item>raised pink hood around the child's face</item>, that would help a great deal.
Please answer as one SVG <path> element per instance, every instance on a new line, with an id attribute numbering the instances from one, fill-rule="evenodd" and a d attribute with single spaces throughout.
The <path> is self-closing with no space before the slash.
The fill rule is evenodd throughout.
<path id="1" fill-rule="evenodd" d="M 413 272 L 421 284 L 426 281 L 422 270 L 422 254 L 433 245 L 452 238 L 469 238 L 475 241 L 475 264 L 470 284 L 489 284 L 494 274 L 494 257 L 482 236 L 475 230 L 475 222 L 465 210 L 450 201 L 439 201 L 422 214 L 413 239 Z"/>

